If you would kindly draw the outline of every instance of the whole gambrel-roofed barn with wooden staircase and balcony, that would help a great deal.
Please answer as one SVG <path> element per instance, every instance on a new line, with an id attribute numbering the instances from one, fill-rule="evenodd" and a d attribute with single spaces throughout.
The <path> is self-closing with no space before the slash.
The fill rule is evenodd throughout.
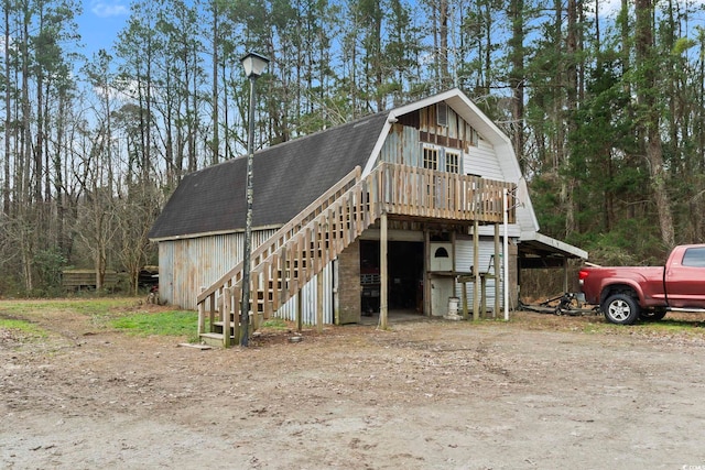
<path id="1" fill-rule="evenodd" d="M 454 299 L 464 314 L 497 315 L 517 305 L 521 264 L 587 258 L 539 233 L 510 140 L 458 89 L 253 162 L 254 328 L 269 317 L 322 326 L 445 316 Z M 185 176 L 150 232 L 162 300 L 198 309 L 199 332 L 226 345 L 242 288 L 246 164 Z"/>

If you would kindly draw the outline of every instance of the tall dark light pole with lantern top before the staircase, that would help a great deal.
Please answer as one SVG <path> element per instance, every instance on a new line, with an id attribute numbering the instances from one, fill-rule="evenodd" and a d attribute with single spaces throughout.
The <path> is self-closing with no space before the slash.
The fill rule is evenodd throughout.
<path id="1" fill-rule="evenodd" d="M 254 160 L 254 81 L 262 75 L 269 58 L 249 53 L 240 59 L 245 75 L 250 80 L 250 117 L 247 134 L 247 216 L 245 219 L 245 247 L 242 248 L 242 303 L 240 304 L 240 346 L 248 345 L 250 324 L 250 255 L 252 253 L 252 162 Z"/>

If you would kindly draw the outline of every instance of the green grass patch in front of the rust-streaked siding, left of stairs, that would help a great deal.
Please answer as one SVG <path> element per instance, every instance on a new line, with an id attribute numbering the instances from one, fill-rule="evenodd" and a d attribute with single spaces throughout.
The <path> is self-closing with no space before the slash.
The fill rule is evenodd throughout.
<path id="1" fill-rule="evenodd" d="M 138 336 L 183 336 L 192 337 L 197 331 L 198 314 L 187 310 L 137 313 L 116 318 L 110 325 Z"/>

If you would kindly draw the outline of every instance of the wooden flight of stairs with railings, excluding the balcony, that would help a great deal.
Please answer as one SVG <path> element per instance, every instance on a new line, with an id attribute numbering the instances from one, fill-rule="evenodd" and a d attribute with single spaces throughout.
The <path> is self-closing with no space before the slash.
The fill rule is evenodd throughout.
<path id="1" fill-rule="evenodd" d="M 270 318 L 379 218 L 378 172 L 357 167 L 252 252 L 250 323 Z M 230 346 L 238 338 L 242 262 L 198 296 L 198 334 Z M 223 331 L 230 335 L 223 335 Z"/>

